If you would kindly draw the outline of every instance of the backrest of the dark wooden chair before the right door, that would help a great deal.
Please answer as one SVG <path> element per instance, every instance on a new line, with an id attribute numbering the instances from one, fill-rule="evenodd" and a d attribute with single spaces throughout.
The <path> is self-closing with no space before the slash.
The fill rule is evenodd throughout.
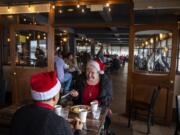
<path id="1" fill-rule="evenodd" d="M 155 88 L 153 90 L 153 94 L 152 94 L 151 101 L 150 101 L 150 108 L 151 108 L 151 110 L 154 108 L 154 106 L 156 104 L 156 101 L 157 101 L 157 99 L 159 97 L 159 94 L 160 94 L 160 89 L 161 88 L 158 87 L 158 88 Z"/>

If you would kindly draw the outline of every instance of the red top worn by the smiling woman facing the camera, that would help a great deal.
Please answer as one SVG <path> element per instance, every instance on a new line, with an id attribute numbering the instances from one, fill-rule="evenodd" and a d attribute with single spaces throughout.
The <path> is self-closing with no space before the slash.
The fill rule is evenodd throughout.
<path id="1" fill-rule="evenodd" d="M 83 90 L 83 104 L 90 105 L 90 102 L 93 100 L 97 100 L 97 97 L 100 93 L 100 84 L 89 85 L 86 83 Z"/>

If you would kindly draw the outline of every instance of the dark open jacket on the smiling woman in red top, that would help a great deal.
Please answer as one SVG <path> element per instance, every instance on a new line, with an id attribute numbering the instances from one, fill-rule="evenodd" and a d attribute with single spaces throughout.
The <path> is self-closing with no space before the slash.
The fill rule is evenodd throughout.
<path id="1" fill-rule="evenodd" d="M 75 104 L 83 103 L 83 90 L 85 84 L 86 84 L 85 75 L 79 76 L 75 83 L 75 88 L 74 88 L 79 92 L 79 97 L 77 100 L 75 100 Z M 109 107 L 112 101 L 112 82 L 105 74 L 100 75 L 100 94 L 97 100 L 100 101 L 101 107 Z"/>

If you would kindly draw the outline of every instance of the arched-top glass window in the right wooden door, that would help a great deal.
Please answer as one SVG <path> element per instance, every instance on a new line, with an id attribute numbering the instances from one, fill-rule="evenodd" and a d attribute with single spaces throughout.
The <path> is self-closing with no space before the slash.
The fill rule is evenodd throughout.
<path id="1" fill-rule="evenodd" d="M 172 33 L 164 30 L 140 31 L 135 34 L 134 70 L 169 72 Z"/>

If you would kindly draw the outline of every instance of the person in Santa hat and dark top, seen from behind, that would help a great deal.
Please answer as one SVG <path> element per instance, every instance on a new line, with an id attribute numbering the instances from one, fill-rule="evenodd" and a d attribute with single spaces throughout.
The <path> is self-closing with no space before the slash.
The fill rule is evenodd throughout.
<path id="1" fill-rule="evenodd" d="M 75 132 L 62 117 L 54 113 L 61 84 L 55 72 L 33 75 L 31 95 L 33 104 L 18 109 L 13 116 L 10 135 L 79 135 L 82 123 L 77 120 Z"/>

